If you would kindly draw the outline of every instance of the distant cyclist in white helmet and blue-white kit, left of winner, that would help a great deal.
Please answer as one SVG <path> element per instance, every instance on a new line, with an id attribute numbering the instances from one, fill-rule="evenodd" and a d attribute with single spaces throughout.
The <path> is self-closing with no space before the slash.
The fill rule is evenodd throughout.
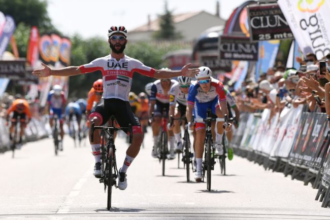
<path id="1" fill-rule="evenodd" d="M 59 127 L 60 127 L 60 135 L 61 141 L 64 137 L 64 130 L 63 130 L 63 115 L 64 115 L 64 108 L 65 108 L 65 96 L 64 92 L 62 91 L 62 87 L 60 85 L 54 85 L 53 90 L 51 90 L 48 94 L 47 98 L 47 106 L 49 111 L 49 124 L 50 127 L 53 128 L 53 117 L 57 115 L 59 120 Z M 62 144 L 59 145 L 59 150 L 62 150 Z"/>

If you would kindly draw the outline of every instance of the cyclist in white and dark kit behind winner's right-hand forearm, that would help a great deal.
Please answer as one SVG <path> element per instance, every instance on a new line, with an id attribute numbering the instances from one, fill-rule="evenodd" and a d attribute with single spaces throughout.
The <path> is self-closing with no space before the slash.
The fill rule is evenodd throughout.
<path id="1" fill-rule="evenodd" d="M 172 85 L 178 83 L 176 80 L 171 79 L 161 79 L 156 80 L 152 87 L 151 87 L 151 94 L 149 98 L 149 115 L 154 113 L 153 122 L 151 124 L 152 127 L 152 134 L 153 134 L 153 148 L 151 152 L 151 156 L 153 158 L 158 157 L 158 149 L 157 149 L 157 142 L 158 142 L 158 135 L 159 135 L 159 128 L 161 123 L 161 116 L 163 109 L 166 109 L 166 116 L 169 116 L 170 110 L 170 90 Z M 174 145 L 175 145 L 175 138 L 173 131 L 168 130 L 168 136 L 170 140 L 170 154 L 168 155 L 168 159 L 174 159 Z"/>

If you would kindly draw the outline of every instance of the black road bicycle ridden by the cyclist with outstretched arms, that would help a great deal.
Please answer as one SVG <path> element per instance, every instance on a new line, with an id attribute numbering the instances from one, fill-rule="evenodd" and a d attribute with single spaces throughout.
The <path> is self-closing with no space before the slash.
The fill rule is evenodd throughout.
<path id="1" fill-rule="evenodd" d="M 115 117 L 111 116 L 111 125 L 114 125 Z M 90 140 L 91 142 L 94 141 L 94 131 L 95 130 L 101 130 L 101 133 L 104 132 L 104 140 L 106 140 L 105 143 L 105 149 L 102 151 L 104 154 L 104 159 L 102 161 L 103 166 L 101 166 L 101 169 L 103 169 L 103 175 L 102 176 L 96 176 L 97 178 L 100 178 L 100 183 L 104 184 L 104 192 L 107 192 L 108 187 L 108 199 L 107 199 L 107 209 L 110 210 L 111 208 L 111 194 L 112 194 L 112 188 L 113 186 L 115 188 L 117 187 L 116 179 L 118 178 L 118 168 L 117 168 L 117 161 L 116 161 L 116 146 L 114 142 L 114 134 L 118 130 L 125 131 L 129 136 L 129 143 L 133 140 L 133 132 L 132 132 L 132 126 L 131 124 L 128 125 L 128 127 L 113 127 L 113 126 L 95 126 L 94 123 L 91 125 L 90 129 Z"/>

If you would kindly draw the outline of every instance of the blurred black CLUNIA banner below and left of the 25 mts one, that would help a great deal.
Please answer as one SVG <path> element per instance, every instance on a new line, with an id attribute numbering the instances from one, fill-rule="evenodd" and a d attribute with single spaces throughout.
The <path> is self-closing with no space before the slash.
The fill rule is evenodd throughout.
<path id="1" fill-rule="evenodd" d="M 220 59 L 223 60 L 258 60 L 258 43 L 239 36 L 220 36 Z"/>

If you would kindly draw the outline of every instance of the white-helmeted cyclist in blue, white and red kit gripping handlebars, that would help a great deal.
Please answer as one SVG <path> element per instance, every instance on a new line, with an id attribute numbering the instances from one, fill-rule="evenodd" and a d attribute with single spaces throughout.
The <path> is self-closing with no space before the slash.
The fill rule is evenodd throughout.
<path id="1" fill-rule="evenodd" d="M 215 123 L 212 123 L 212 136 L 213 139 L 215 139 L 213 147 L 216 149 L 216 154 L 222 155 L 223 149 L 221 140 L 223 135 L 223 117 L 224 114 L 228 115 L 224 88 L 220 81 L 211 77 L 212 72 L 209 67 L 201 66 L 199 69 L 200 73 L 196 75 L 197 81 L 193 81 L 189 88 L 186 117 L 189 127 L 192 127 L 192 125 L 190 125 L 192 113 L 196 121 L 198 121 L 198 119 L 206 119 L 207 108 L 212 109 L 214 118 L 221 118 L 217 123 L 216 134 L 214 132 Z M 231 125 L 229 124 L 226 130 L 229 131 L 230 127 Z M 203 177 L 202 158 L 204 152 L 205 122 L 196 122 L 195 130 L 195 158 L 197 169 L 195 180 L 201 181 Z"/>

